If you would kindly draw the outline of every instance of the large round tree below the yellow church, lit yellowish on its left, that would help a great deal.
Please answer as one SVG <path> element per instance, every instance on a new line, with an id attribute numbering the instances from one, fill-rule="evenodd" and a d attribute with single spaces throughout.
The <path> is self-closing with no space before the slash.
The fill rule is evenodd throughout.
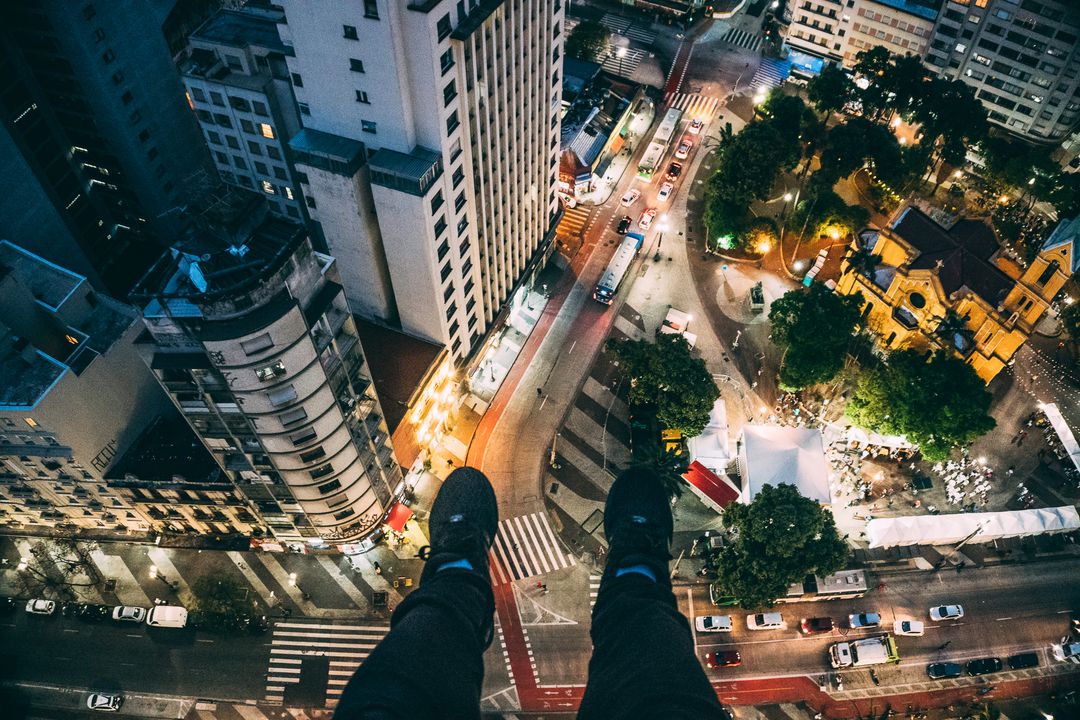
<path id="1" fill-rule="evenodd" d="M 997 425 L 989 407 L 982 379 L 951 353 L 897 350 L 859 376 L 846 412 L 856 425 L 906 436 L 936 461 Z"/>

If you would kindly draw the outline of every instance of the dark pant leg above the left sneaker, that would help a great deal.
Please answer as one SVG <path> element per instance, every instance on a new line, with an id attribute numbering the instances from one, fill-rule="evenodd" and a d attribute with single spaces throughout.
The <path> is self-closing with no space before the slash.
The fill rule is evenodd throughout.
<path id="1" fill-rule="evenodd" d="M 487 578 L 458 568 L 424 578 L 349 680 L 335 719 L 478 719 L 494 612 Z"/>

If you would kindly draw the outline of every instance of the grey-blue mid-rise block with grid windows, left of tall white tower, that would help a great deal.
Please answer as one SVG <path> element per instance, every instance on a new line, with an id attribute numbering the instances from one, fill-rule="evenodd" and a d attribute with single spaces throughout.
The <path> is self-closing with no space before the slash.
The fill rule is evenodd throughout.
<path id="1" fill-rule="evenodd" d="M 266 195 L 270 212 L 305 217 L 288 138 L 300 128 L 288 81 L 280 11 L 222 10 L 189 38 L 181 65 L 218 174 Z"/>

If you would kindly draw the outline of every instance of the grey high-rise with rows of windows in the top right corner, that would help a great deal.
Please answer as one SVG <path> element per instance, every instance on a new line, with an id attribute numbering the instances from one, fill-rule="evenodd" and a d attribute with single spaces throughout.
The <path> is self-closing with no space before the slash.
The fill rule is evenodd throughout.
<path id="1" fill-rule="evenodd" d="M 926 56 L 975 89 L 991 122 L 1061 142 L 1080 123 L 1080 5 L 1074 0 L 946 0 Z"/>

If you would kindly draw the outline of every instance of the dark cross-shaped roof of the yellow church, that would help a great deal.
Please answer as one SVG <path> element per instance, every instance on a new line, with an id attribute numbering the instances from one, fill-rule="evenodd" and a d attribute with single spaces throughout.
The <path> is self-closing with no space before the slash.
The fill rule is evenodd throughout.
<path id="1" fill-rule="evenodd" d="M 910 268 L 934 271 L 946 295 L 967 287 L 997 305 L 1013 287 L 1013 281 L 991 260 L 998 241 L 981 220 L 959 220 L 946 230 L 917 207 L 907 207 L 892 231 L 918 250 Z"/>

